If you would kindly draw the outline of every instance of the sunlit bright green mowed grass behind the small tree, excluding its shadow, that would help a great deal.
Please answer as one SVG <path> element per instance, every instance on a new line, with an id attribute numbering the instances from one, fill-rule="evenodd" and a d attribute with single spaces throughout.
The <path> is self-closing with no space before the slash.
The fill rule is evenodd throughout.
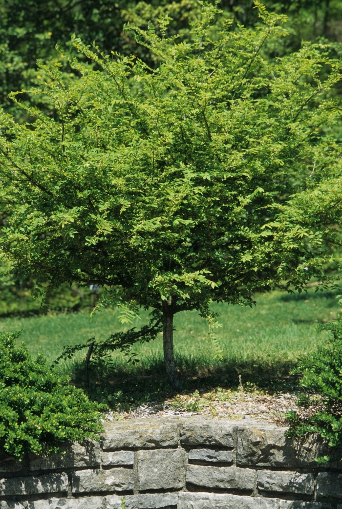
<path id="1" fill-rule="evenodd" d="M 335 319 L 338 302 L 331 293 L 287 294 L 279 291 L 257 297 L 257 306 L 242 307 L 216 304 L 222 328 L 217 336 L 223 350 L 223 361 L 213 360 L 214 349 L 208 340 L 208 326 L 195 312 L 175 317 L 175 354 L 183 372 L 206 376 L 213 370 L 243 373 L 253 369 L 286 371 L 299 354 L 308 352 L 324 340 L 325 333 L 315 329 L 318 323 Z M 147 313 L 132 326 L 146 323 Z M 95 336 L 104 340 L 109 334 L 123 330 L 116 310 L 104 309 L 90 319 L 89 312 L 53 314 L 30 318 L 5 318 L 0 330 L 23 329 L 21 340 L 33 353 L 42 352 L 55 359 L 64 345 L 85 343 Z M 127 328 L 127 327 L 126 327 Z M 143 373 L 162 370 L 162 335 L 155 341 L 133 349 L 140 359 L 136 366 L 127 364 L 123 354 L 114 355 L 116 372 Z M 84 350 L 84 355 L 86 355 Z M 79 354 L 81 357 L 82 355 Z M 84 357 L 83 355 L 83 357 Z M 159 366 L 159 367 L 158 367 Z M 225 367 L 224 367 L 225 366 Z M 285 367 L 284 367 L 285 366 Z M 290 366 L 291 367 L 291 366 Z"/>

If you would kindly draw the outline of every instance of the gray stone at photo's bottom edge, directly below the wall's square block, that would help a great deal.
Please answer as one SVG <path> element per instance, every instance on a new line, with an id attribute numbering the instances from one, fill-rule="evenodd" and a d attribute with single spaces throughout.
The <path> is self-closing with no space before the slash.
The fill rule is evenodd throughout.
<path id="1" fill-rule="evenodd" d="M 109 495 L 106 497 L 106 509 L 122 509 L 122 497 Z M 127 495 L 124 497 L 126 509 L 159 509 L 177 505 L 177 493 L 148 493 L 144 495 Z"/>

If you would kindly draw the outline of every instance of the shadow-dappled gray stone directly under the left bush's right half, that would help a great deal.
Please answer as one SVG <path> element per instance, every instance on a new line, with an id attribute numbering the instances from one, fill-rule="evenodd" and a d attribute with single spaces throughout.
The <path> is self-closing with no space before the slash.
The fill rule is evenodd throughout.
<path id="1" fill-rule="evenodd" d="M 71 442 L 62 447 L 61 454 L 30 457 L 30 470 L 54 470 L 69 467 L 95 467 L 100 464 L 101 449 L 98 442 L 81 445 Z"/>

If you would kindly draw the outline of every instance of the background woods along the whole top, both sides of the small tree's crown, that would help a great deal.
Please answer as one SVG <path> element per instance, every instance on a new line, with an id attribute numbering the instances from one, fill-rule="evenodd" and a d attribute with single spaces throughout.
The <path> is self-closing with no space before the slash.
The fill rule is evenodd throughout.
<path id="1" fill-rule="evenodd" d="M 324 36 L 331 41 L 340 41 L 342 2 L 265 0 L 264 3 L 269 10 L 289 16 L 287 28 L 290 37 L 285 45 L 279 44 L 279 41 L 278 47 L 271 45 L 270 56 L 296 51 L 302 40 L 317 41 Z M 222 0 L 219 3 L 223 18 L 234 18 L 246 27 L 253 27 L 259 22 L 253 5 L 253 0 Z M 86 44 L 96 41 L 104 52 L 141 52 L 141 56 L 146 58 L 147 48 L 138 47 L 131 33 L 122 33 L 124 22 L 134 21 L 146 27 L 147 22 L 152 20 L 159 30 L 158 19 L 167 14 L 172 17 L 167 34 L 183 33 L 185 36 L 189 21 L 194 19 L 198 9 L 195 0 L 0 0 L 0 103 L 12 113 L 16 112 L 20 119 L 23 111 L 15 109 L 8 98 L 9 93 L 40 87 L 37 59 L 44 62 L 58 59 L 66 64 L 55 45 L 68 46 L 73 33 Z M 66 66 L 65 70 L 67 77 L 70 69 Z"/>

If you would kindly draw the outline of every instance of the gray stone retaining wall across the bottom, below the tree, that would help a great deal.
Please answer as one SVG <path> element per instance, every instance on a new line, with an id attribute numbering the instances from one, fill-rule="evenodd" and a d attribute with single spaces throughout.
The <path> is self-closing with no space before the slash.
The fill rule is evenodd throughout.
<path id="1" fill-rule="evenodd" d="M 1 509 L 342 509 L 342 465 L 250 419 L 113 422 L 65 454 L 0 457 Z"/>

